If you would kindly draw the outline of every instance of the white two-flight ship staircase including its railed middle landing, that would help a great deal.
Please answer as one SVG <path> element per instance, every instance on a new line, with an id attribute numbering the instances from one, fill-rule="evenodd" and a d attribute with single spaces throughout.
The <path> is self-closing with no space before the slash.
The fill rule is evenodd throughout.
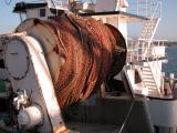
<path id="1" fill-rule="evenodd" d="M 154 73 L 152 69 L 155 69 L 155 71 L 157 71 L 159 74 L 162 72 L 159 65 L 152 65 L 152 62 L 157 62 L 158 64 L 158 58 L 152 54 L 154 50 L 152 42 L 160 20 L 160 13 L 158 13 L 160 12 L 160 9 L 162 3 L 157 0 L 149 19 L 144 21 L 139 38 L 128 43 L 129 53 L 127 54 L 129 62 L 135 64 L 135 66 L 140 68 L 138 72 L 142 78 L 143 88 L 137 88 L 136 90 L 145 95 L 158 98 L 162 95 L 162 93 L 159 90 L 159 84 L 157 84 L 156 80 L 160 79 L 156 78 L 157 73 Z M 150 61 L 152 59 L 153 61 Z"/>

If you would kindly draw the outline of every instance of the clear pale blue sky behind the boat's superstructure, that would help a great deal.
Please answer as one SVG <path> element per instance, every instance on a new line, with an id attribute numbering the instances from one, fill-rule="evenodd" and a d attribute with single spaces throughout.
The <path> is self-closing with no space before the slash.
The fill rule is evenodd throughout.
<path id="1" fill-rule="evenodd" d="M 12 13 L 12 10 L 15 2 L 22 0 L 11 0 L 10 6 L 7 6 L 6 1 L 9 0 L 0 0 L 0 18 L 1 18 L 0 34 L 12 32 L 20 23 L 19 14 Z M 135 0 L 128 0 L 128 1 L 135 1 Z M 158 25 L 155 38 L 162 40 L 177 41 L 176 32 L 177 32 L 177 0 L 163 0 L 162 21 Z M 137 34 L 136 28 L 134 29 L 131 28 L 129 35 L 134 37 L 135 34 Z"/>

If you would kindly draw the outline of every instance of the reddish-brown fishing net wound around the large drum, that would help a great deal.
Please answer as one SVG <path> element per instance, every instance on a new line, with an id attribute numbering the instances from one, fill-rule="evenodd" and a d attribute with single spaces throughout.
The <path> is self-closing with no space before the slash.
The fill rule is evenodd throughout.
<path id="1" fill-rule="evenodd" d="M 116 53 L 118 45 L 119 50 L 124 47 L 125 53 L 125 43 L 119 42 L 117 37 L 123 37 L 111 25 L 74 14 L 54 18 L 49 24 L 58 33 L 58 50 L 64 60 L 54 84 L 60 106 L 87 99 L 108 74 L 122 69 L 126 54 L 119 59 L 118 70 Z M 117 71 L 112 71 L 113 68 Z"/>

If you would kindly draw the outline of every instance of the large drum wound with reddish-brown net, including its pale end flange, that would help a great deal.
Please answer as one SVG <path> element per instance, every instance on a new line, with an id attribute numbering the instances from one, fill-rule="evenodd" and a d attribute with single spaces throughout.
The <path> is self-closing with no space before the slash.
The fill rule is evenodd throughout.
<path id="1" fill-rule="evenodd" d="M 15 32 L 22 31 L 41 43 L 61 108 L 87 99 L 125 63 L 123 35 L 92 18 L 70 13 L 48 21 L 29 19 Z"/>

